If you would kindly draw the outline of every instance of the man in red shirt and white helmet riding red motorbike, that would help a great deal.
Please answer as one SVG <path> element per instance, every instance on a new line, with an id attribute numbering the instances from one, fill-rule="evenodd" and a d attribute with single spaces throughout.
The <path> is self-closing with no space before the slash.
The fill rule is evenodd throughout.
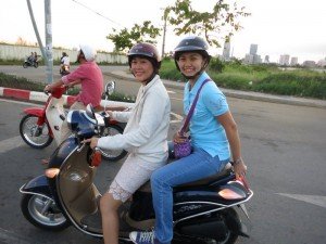
<path id="1" fill-rule="evenodd" d="M 71 110 L 85 110 L 90 103 L 97 107 L 101 103 L 103 93 L 103 75 L 100 67 L 95 62 L 96 50 L 88 44 L 80 44 L 80 50 L 77 54 L 77 62 L 80 64 L 76 70 L 63 76 L 60 80 L 46 86 L 45 91 L 51 91 L 60 86 L 82 85 L 82 90 L 76 97 L 75 103 Z M 61 128 L 61 142 L 70 136 L 66 121 L 63 121 Z"/>

